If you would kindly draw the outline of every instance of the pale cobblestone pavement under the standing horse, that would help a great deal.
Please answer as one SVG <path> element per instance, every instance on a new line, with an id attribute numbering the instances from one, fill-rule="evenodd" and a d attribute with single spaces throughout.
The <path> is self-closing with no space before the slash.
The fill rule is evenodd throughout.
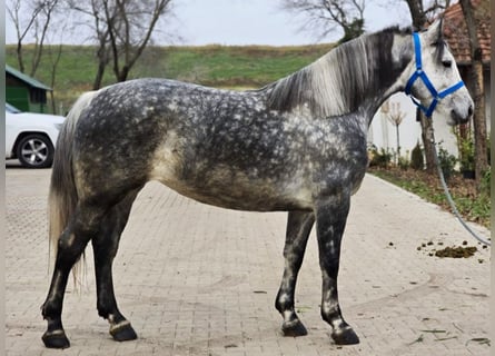
<path id="1" fill-rule="evenodd" d="M 6 170 L 7 355 L 489 353 L 489 248 L 471 239 L 449 214 L 372 176 L 353 198 L 339 275 L 343 313 L 359 345 L 336 346 L 320 319 L 315 236 L 297 288 L 297 309 L 309 334 L 283 337 L 274 300 L 286 214 L 222 210 L 151 182 L 136 200 L 115 263 L 119 306 L 139 339 L 111 340 L 107 322 L 98 317 L 88 248 L 87 286 L 81 294 L 71 286 L 66 295 L 71 347 L 46 349 L 40 305 L 49 284 L 50 170 Z M 428 256 L 463 240 L 478 247 L 474 257 Z"/>

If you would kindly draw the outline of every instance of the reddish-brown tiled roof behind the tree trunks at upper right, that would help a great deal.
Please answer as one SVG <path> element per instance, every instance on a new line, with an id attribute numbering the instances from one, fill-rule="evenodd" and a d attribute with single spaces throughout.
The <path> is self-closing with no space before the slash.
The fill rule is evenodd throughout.
<path id="1" fill-rule="evenodd" d="M 478 41 L 484 63 L 491 61 L 491 14 L 489 0 L 472 0 L 474 17 L 478 27 Z M 445 10 L 444 36 L 458 65 L 471 63 L 469 36 L 461 3 Z"/>

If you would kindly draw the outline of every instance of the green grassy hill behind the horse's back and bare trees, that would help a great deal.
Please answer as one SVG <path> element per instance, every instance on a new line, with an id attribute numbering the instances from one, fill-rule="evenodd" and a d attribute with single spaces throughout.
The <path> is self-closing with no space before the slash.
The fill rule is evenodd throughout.
<path id="1" fill-rule="evenodd" d="M 211 87 L 256 88 L 299 70 L 331 47 L 333 44 L 149 47 L 132 68 L 129 79 L 159 77 Z M 26 63 L 30 63 L 32 50 L 32 47 L 26 46 Z M 67 110 L 81 92 L 92 87 L 97 70 L 96 48 L 63 46 L 52 83 L 51 53 L 56 50 L 56 47 L 46 47 L 34 77 L 55 89 L 57 108 Z M 6 61 L 18 68 L 14 46 L 6 47 Z M 30 68 L 29 65 L 27 67 Z M 115 81 L 109 66 L 103 85 Z"/>

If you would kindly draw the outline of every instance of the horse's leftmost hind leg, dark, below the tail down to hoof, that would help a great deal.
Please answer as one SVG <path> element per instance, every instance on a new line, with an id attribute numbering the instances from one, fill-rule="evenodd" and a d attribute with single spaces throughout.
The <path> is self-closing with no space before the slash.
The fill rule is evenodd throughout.
<path id="1" fill-rule="evenodd" d="M 98 233 L 103 215 L 103 208 L 80 202 L 58 240 L 50 289 L 41 307 L 43 318 L 48 323 L 42 340 L 49 348 L 67 348 L 70 346 L 61 320 L 67 281 L 72 266 L 81 257 L 92 236 Z"/>

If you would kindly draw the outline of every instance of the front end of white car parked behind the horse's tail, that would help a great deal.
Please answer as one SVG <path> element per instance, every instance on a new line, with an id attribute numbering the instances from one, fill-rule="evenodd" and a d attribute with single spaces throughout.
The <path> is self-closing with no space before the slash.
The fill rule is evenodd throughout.
<path id="1" fill-rule="evenodd" d="M 6 158 L 17 158 L 29 168 L 51 167 L 65 119 L 56 115 L 21 112 L 6 102 Z"/>

